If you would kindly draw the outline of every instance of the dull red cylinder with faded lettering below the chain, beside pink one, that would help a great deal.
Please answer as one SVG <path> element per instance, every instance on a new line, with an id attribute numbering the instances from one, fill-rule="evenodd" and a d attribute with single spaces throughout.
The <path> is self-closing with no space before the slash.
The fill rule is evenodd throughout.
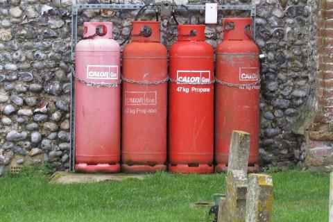
<path id="1" fill-rule="evenodd" d="M 122 171 L 167 169 L 167 48 L 160 22 L 132 22 L 123 49 Z"/>

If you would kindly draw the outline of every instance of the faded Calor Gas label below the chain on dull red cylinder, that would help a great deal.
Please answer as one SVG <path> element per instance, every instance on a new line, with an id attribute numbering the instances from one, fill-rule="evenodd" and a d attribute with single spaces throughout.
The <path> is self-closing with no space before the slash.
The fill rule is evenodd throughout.
<path id="1" fill-rule="evenodd" d="M 124 95 L 125 105 L 156 105 L 157 92 L 133 92 L 126 91 Z"/>

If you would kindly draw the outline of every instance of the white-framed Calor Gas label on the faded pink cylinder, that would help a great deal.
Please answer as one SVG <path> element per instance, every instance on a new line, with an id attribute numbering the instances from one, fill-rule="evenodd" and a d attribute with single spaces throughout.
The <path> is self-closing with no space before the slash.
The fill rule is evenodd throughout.
<path id="1" fill-rule="evenodd" d="M 87 65 L 87 78 L 118 79 L 117 65 Z"/>

